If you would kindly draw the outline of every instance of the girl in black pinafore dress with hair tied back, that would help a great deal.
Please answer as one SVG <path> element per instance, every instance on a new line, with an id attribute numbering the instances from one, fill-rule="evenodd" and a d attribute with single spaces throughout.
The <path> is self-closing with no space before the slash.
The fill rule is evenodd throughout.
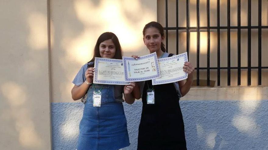
<path id="1" fill-rule="evenodd" d="M 170 57 L 163 44 L 164 28 L 158 22 L 150 22 L 143 28 L 143 41 L 150 53 L 158 58 Z M 139 56 L 132 55 L 138 59 Z M 186 150 L 184 123 L 179 105 L 180 97 L 189 92 L 193 81 L 194 67 L 185 62 L 183 70 L 187 81 L 152 85 L 152 81 L 139 82 L 143 102 L 139 124 L 138 150 L 176 149 Z M 147 104 L 147 92 L 154 91 L 154 104 Z"/>

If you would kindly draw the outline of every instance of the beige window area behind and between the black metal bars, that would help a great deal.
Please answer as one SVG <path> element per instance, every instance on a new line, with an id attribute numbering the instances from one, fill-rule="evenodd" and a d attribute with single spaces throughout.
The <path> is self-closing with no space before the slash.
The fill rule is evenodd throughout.
<path id="1" fill-rule="evenodd" d="M 196 27 L 196 0 L 189 0 L 189 25 Z M 206 0 L 199 1 L 199 20 L 200 26 L 207 25 L 206 14 Z M 227 26 L 227 1 L 220 2 L 220 26 Z M 241 0 L 241 26 L 247 25 L 248 14 L 248 1 Z M 267 25 L 267 6 L 268 1 L 262 0 L 262 25 Z M 237 26 L 237 1 L 231 1 L 231 26 Z M 258 1 L 252 1 L 251 4 L 251 25 L 258 25 Z M 254 17 L 253 17 L 254 16 Z M 165 1 L 157 1 L 157 19 L 165 26 Z M 168 1 L 168 26 L 176 27 L 176 1 Z M 186 27 L 186 1 L 178 1 L 178 26 Z M 210 0 L 210 26 L 217 26 L 217 0 Z M 248 29 L 241 29 L 241 67 L 248 66 Z M 268 30 L 262 29 L 262 66 L 268 66 L 268 59 L 265 56 L 268 55 Z M 231 29 L 231 67 L 238 66 L 238 46 L 237 46 L 237 29 Z M 178 31 L 178 53 L 186 52 L 186 30 Z M 197 34 L 196 30 L 190 30 L 189 34 L 189 61 L 196 67 L 197 62 Z M 176 30 L 168 30 L 168 52 L 176 53 Z M 200 30 L 200 55 L 199 55 L 199 67 L 207 67 L 207 32 L 206 30 Z M 220 67 L 227 67 L 227 29 L 220 30 Z M 251 66 L 258 66 L 258 29 L 251 30 Z M 217 67 L 217 30 L 210 29 L 210 67 Z M 220 85 L 227 87 L 227 69 L 221 69 L 220 71 Z M 199 70 L 199 78 L 206 79 L 206 70 Z M 262 69 L 262 85 L 268 85 L 268 80 L 264 77 L 268 75 L 266 69 Z M 196 76 L 196 75 L 194 75 Z M 251 86 L 258 86 L 258 70 L 252 69 L 251 72 Z M 215 80 L 217 83 L 217 70 L 210 70 L 210 80 Z M 237 69 L 231 69 L 231 86 L 237 86 Z M 241 86 L 247 86 L 247 69 L 241 70 Z"/>

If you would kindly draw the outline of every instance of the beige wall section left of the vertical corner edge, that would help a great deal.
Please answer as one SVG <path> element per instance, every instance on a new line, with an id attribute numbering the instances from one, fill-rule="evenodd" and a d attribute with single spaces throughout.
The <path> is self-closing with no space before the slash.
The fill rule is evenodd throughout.
<path id="1" fill-rule="evenodd" d="M 0 149 L 51 148 L 46 0 L 0 1 Z"/>

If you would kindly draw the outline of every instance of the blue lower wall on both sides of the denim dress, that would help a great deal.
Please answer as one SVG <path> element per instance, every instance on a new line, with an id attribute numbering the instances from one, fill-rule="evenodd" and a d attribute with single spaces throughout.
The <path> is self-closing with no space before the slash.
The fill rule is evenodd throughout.
<path id="1" fill-rule="evenodd" d="M 79 123 L 83 116 L 83 103 L 51 103 L 52 148 L 53 150 L 76 149 Z M 142 110 L 141 101 L 133 105 L 124 103 L 130 146 L 125 150 L 137 149 L 138 128 Z"/>

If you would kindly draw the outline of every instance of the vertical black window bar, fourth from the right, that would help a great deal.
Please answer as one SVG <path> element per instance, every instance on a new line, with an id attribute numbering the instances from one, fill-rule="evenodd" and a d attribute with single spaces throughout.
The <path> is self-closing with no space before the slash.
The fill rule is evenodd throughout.
<path id="1" fill-rule="evenodd" d="M 227 0 L 227 85 L 231 85 L 230 0 Z"/>

